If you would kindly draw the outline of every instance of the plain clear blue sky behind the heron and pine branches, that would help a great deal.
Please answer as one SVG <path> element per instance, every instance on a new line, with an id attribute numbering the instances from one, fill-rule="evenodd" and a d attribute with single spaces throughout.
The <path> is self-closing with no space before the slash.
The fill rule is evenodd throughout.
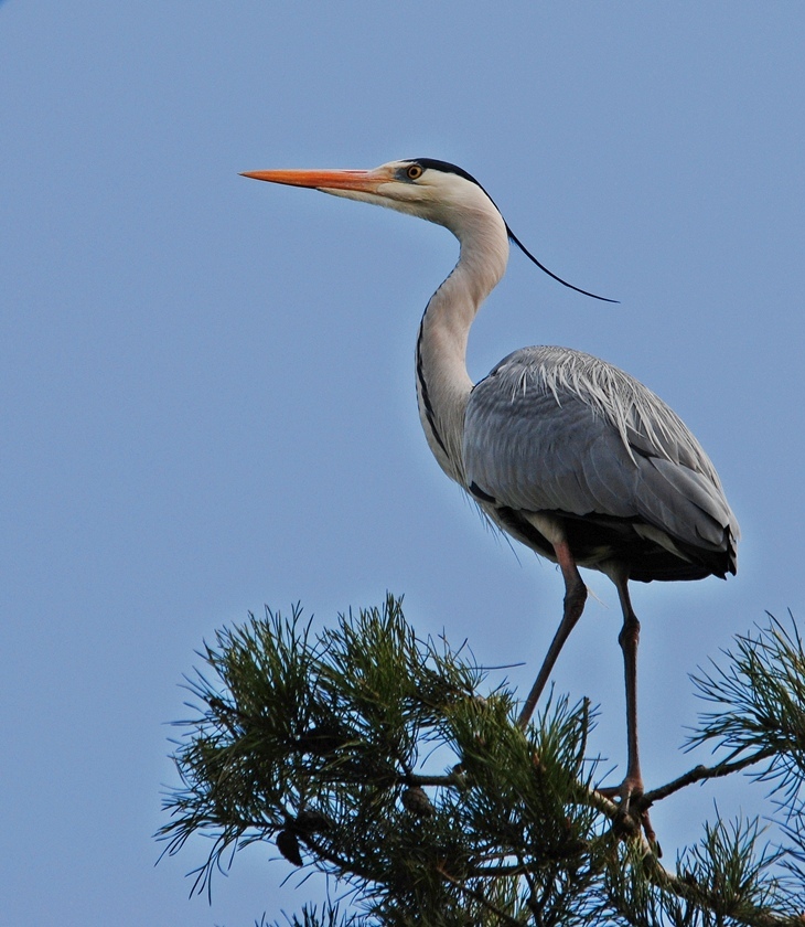
<path id="1" fill-rule="evenodd" d="M 215 628 L 389 589 L 422 635 L 526 661 L 526 688 L 559 617 L 555 567 L 485 531 L 420 433 L 416 327 L 454 241 L 244 170 L 453 161 L 548 267 L 621 300 L 513 255 L 469 363 L 598 354 L 712 457 L 738 577 L 634 589 L 645 778 L 697 760 L 687 674 L 803 611 L 804 40 L 795 3 L 0 6 L 8 923 L 248 925 L 319 891 L 281 887 L 268 848 L 212 906 L 183 877 L 202 843 L 153 865 L 165 723 Z M 555 678 L 601 703 L 622 769 L 618 603 L 586 578 Z M 759 807 L 666 803 L 672 859 L 715 797 Z"/>

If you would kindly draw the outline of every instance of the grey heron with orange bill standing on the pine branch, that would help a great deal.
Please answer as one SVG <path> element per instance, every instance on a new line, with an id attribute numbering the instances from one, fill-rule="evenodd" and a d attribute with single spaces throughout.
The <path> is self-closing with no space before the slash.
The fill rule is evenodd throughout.
<path id="1" fill-rule="evenodd" d="M 630 802 L 643 795 L 640 622 L 629 580 L 736 573 L 738 523 L 710 459 L 654 393 L 581 351 L 525 348 L 473 384 L 465 362 L 470 327 L 505 273 L 509 242 L 559 283 L 579 288 L 526 251 L 466 171 L 416 158 L 374 170 L 244 175 L 388 206 L 443 225 L 459 239 L 459 262 L 431 297 L 419 326 L 416 382 L 422 428 L 444 472 L 494 524 L 557 563 L 565 580 L 562 618 L 522 708 L 522 727 L 583 610 L 587 587 L 578 567 L 598 569 L 614 583 L 623 612 L 619 642 L 626 683 L 627 766 L 623 784 L 613 791 L 626 813 Z M 647 816 L 642 817 L 650 834 Z"/>

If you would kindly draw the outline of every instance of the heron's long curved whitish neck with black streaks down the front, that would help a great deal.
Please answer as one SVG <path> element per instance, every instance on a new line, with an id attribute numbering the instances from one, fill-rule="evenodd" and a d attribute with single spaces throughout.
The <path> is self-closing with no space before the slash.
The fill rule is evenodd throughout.
<path id="1" fill-rule="evenodd" d="M 508 237 L 492 207 L 451 228 L 461 243 L 459 263 L 428 302 L 417 340 L 417 398 L 425 435 L 444 472 L 464 484 L 464 411 L 472 391 L 466 372 L 470 327 L 506 270 Z"/>

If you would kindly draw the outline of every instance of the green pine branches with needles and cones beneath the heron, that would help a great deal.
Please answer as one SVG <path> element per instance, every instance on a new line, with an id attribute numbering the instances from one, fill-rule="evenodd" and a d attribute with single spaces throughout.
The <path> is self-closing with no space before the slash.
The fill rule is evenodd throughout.
<path id="1" fill-rule="evenodd" d="M 160 837 L 170 854 L 213 838 L 194 891 L 259 841 L 352 892 L 347 914 L 289 921 L 305 927 L 802 927 L 805 656 L 793 621 L 737 641 L 695 680 L 713 707 L 691 743 L 726 758 L 646 791 L 630 817 L 598 789 L 587 700 L 552 697 L 520 731 L 514 693 L 489 691 L 466 647 L 418 639 L 400 600 L 315 635 L 299 608 L 251 616 L 186 681 Z M 771 784 L 786 845 L 765 844 L 758 821 L 717 820 L 664 866 L 641 812 L 744 769 Z"/>

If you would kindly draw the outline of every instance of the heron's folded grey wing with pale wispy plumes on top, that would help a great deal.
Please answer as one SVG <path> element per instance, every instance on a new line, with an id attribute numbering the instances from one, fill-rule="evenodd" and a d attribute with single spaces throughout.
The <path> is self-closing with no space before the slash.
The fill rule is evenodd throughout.
<path id="1" fill-rule="evenodd" d="M 738 525 L 704 450 L 665 403 L 588 354 L 506 358 L 470 396 L 463 460 L 468 487 L 497 507 L 626 520 L 734 569 Z"/>

